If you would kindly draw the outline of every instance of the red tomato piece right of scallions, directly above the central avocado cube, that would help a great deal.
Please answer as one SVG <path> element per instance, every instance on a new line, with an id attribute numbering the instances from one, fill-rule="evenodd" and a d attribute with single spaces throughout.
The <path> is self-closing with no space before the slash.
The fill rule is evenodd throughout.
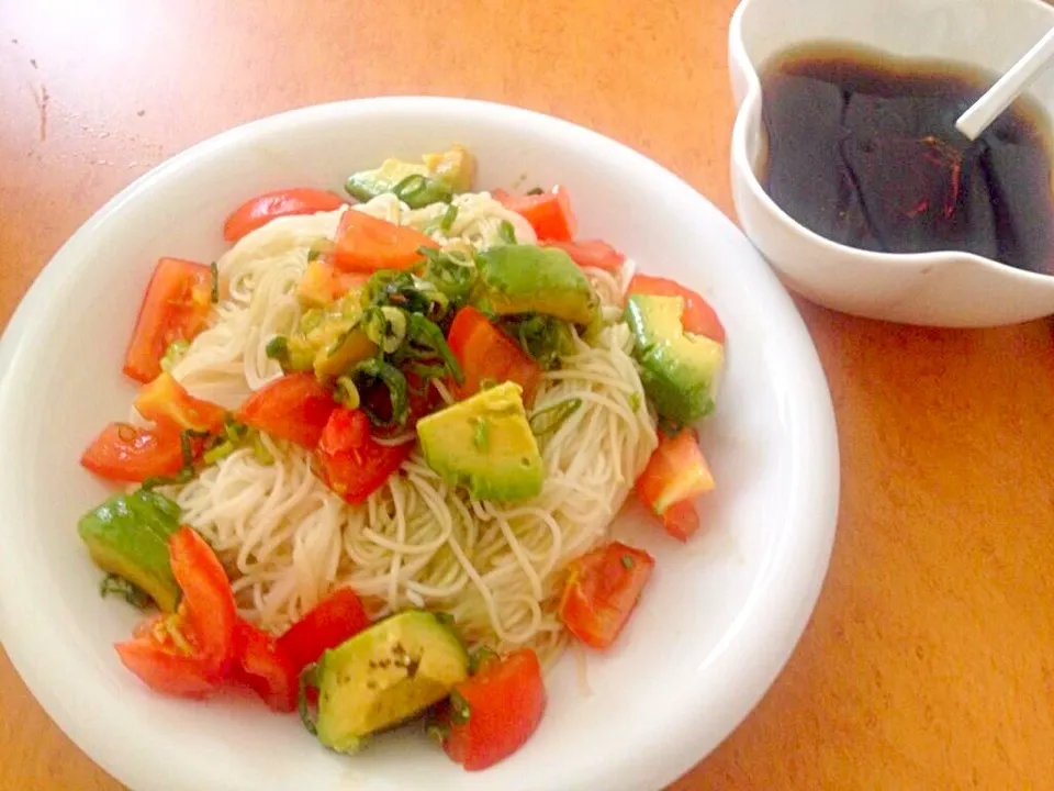
<path id="1" fill-rule="evenodd" d="M 447 344 L 464 374 L 464 382 L 453 388 L 459 398 L 478 393 L 489 380 L 495 385 L 514 381 L 524 389 L 524 403 L 534 399 L 541 382 L 541 366 L 475 308 L 458 311 Z"/>

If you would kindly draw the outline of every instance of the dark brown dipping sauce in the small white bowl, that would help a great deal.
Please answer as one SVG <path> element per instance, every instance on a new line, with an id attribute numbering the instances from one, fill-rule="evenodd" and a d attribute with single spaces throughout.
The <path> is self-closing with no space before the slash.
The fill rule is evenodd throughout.
<path id="1" fill-rule="evenodd" d="M 866 250 L 964 250 L 1054 272 L 1046 119 L 1019 100 L 971 143 L 956 119 L 996 77 L 806 46 L 762 76 L 765 190 L 821 236 Z"/>

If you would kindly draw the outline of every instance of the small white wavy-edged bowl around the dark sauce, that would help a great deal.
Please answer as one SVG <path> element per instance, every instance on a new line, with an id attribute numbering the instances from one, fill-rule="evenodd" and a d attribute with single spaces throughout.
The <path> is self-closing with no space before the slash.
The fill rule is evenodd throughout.
<path id="1" fill-rule="evenodd" d="M 933 326 L 994 326 L 1054 313 L 1054 277 L 976 255 L 868 253 L 809 231 L 769 197 L 760 70 L 807 42 L 839 42 L 901 57 L 939 58 L 1001 73 L 1054 26 L 1040 0 L 744 0 L 729 31 L 739 107 L 732 196 L 750 239 L 794 290 L 871 319 Z M 1031 96 L 1054 114 L 1054 69 Z"/>

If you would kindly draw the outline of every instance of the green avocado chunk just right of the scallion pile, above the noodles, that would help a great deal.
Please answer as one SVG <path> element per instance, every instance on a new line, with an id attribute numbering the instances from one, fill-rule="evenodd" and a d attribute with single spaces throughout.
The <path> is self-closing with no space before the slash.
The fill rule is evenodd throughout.
<path id="1" fill-rule="evenodd" d="M 562 249 L 501 245 L 480 253 L 476 266 L 473 300 L 502 315 L 542 313 L 587 325 L 597 314 L 593 287 Z"/>

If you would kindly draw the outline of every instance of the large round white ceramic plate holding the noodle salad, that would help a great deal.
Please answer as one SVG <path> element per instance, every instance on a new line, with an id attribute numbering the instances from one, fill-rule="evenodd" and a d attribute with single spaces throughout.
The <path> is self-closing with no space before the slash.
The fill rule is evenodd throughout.
<path id="1" fill-rule="evenodd" d="M 78 466 L 127 412 L 121 363 L 161 255 L 208 261 L 246 198 L 290 185 L 339 190 L 386 156 L 459 142 L 479 185 L 570 189 L 582 237 L 676 277 L 717 308 L 728 368 L 704 446 L 718 481 L 687 546 L 632 511 L 619 534 L 652 552 L 653 581 L 614 650 L 548 679 L 549 710 L 508 760 L 466 773 L 423 736 L 325 750 L 295 716 L 249 698 L 150 693 L 112 644 L 137 614 L 97 590 L 77 537 L 106 489 Z M 642 791 L 700 760 L 745 716 L 789 656 L 830 555 L 838 448 L 830 396 L 805 326 L 750 243 L 683 181 L 579 126 L 495 104 L 377 99 L 307 108 L 222 134 L 144 176 L 51 261 L 0 345 L 0 636 L 52 717 L 134 789 L 264 791 Z"/>

